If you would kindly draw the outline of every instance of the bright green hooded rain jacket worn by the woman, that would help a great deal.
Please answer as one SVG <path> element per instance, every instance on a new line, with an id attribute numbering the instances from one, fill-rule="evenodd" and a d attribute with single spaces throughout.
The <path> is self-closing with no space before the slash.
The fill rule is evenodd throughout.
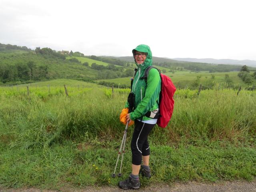
<path id="1" fill-rule="evenodd" d="M 158 108 L 159 94 L 161 90 L 161 78 L 157 69 L 152 68 L 148 73 L 147 82 L 141 79 L 148 66 L 152 65 L 152 52 L 147 45 L 138 45 L 132 54 L 135 60 L 135 51 L 147 53 L 147 57 L 143 64 L 137 64 L 137 72 L 132 83 L 132 92 L 135 94 L 134 111 L 130 113 L 130 119 L 150 120 L 144 116 L 148 111 Z M 125 105 L 128 108 L 128 102 Z"/>

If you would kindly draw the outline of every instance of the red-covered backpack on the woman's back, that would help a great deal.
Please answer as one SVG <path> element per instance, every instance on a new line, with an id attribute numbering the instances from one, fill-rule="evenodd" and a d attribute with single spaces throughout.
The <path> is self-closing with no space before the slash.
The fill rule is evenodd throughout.
<path id="1" fill-rule="evenodd" d="M 148 72 L 152 68 L 157 69 L 161 77 L 161 92 L 159 95 L 160 117 L 157 120 L 157 124 L 158 126 L 165 128 L 172 117 L 172 112 L 174 108 L 173 95 L 176 91 L 176 87 L 168 76 L 162 74 L 160 70 L 154 66 L 149 66 L 148 68 L 146 68 L 144 73 L 144 79 L 146 81 L 148 78 Z"/>

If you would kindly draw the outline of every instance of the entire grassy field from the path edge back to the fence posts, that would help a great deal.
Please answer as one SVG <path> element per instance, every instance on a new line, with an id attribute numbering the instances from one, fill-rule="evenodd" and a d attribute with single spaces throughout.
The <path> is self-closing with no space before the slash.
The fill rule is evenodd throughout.
<path id="1" fill-rule="evenodd" d="M 130 173 L 133 126 L 123 176 L 111 178 L 124 130 L 119 114 L 129 89 L 112 94 L 95 84 L 78 89 L 82 82 L 74 81 L 67 97 L 60 85 L 65 80 L 44 83 L 44 89 L 30 87 L 30 96 L 26 87 L 0 87 L 0 186 L 116 186 Z M 256 92 L 236 94 L 177 90 L 168 127 L 156 126 L 150 134 L 153 176 L 141 178 L 142 185 L 254 180 Z"/>

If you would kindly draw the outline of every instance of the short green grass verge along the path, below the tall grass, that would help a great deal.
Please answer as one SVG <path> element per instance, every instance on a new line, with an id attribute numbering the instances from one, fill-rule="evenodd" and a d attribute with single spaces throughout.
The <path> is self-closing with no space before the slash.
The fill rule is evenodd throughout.
<path id="1" fill-rule="evenodd" d="M 120 138 L 121 139 L 121 138 Z M 130 138 L 128 138 L 128 143 Z M 38 187 L 58 190 L 67 186 L 116 186 L 130 174 L 131 152 L 127 146 L 121 178 L 112 178 L 118 142 L 67 141 L 44 150 L 6 149 L 0 157 L 0 186 Z M 207 143 L 205 143 L 207 144 Z M 204 145 L 205 145 L 204 144 Z M 226 142 L 209 146 L 151 145 L 152 178 L 140 178 L 144 186 L 172 182 L 247 180 L 256 176 L 256 150 Z M 224 145 L 224 146 L 223 146 Z M 119 172 L 119 165 L 118 171 Z"/>

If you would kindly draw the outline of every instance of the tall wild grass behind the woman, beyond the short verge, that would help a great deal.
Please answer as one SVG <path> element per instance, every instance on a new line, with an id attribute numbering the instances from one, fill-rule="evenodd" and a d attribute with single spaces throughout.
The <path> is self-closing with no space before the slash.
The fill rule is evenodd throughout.
<path id="1" fill-rule="evenodd" d="M 10 88 L 9 88 L 10 89 Z M 58 90 L 58 89 L 56 89 Z M 45 147 L 66 139 L 115 138 L 124 126 L 119 114 L 129 90 L 93 88 L 45 92 L 9 90 L 0 94 L 1 138 L 10 146 Z M 42 94 L 44 93 L 44 94 Z M 43 95 L 43 96 L 42 96 Z M 242 90 L 178 90 L 172 120 L 165 129 L 156 127 L 153 142 L 168 144 L 180 140 L 229 140 L 238 142 L 253 136 L 256 129 L 256 94 Z M 129 130 L 132 130 L 131 128 Z"/>

